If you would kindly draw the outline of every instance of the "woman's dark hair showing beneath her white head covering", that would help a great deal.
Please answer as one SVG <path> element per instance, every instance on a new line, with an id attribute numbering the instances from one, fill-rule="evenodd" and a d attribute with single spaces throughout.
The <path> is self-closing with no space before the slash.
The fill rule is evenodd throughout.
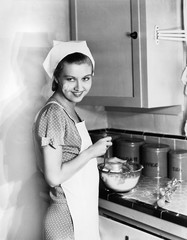
<path id="1" fill-rule="evenodd" d="M 56 80 L 59 79 L 59 77 L 63 71 L 65 63 L 69 63 L 69 64 L 71 64 L 71 63 L 76 63 L 76 64 L 87 63 L 90 66 L 92 66 L 92 72 L 93 72 L 93 64 L 92 64 L 92 61 L 90 60 L 90 58 L 82 53 L 75 52 L 75 53 L 67 55 L 58 63 L 58 65 L 54 71 L 54 74 L 53 74 L 53 76 Z M 52 91 L 56 91 L 57 89 L 58 89 L 58 83 L 55 80 L 53 80 Z"/>

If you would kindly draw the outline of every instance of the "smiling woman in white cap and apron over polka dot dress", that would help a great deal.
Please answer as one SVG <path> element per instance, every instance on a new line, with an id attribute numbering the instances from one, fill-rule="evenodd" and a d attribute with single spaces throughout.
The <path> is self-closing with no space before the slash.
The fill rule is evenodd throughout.
<path id="1" fill-rule="evenodd" d="M 85 41 L 70 41 L 55 42 L 43 65 L 54 91 L 34 128 L 39 167 L 50 186 L 44 239 L 99 240 L 96 157 L 112 142 L 105 137 L 92 144 L 75 111 L 91 88 L 95 62 Z"/>

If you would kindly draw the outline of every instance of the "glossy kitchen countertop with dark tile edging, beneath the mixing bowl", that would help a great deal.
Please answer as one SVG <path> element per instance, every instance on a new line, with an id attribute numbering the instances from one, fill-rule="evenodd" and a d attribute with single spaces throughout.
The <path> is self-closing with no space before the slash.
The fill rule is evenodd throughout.
<path id="1" fill-rule="evenodd" d="M 136 226 L 167 239 L 187 239 L 187 182 L 182 182 L 173 192 L 170 203 L 162 208 L 156 204 L 158 188 L 165 187 L 169 180 L 142 176 L 127 193 L 112 192 L 100 182 L 100 208 L 121 216 L 122 220 L 130 220 L 131 224 L 135 220 Z"/>

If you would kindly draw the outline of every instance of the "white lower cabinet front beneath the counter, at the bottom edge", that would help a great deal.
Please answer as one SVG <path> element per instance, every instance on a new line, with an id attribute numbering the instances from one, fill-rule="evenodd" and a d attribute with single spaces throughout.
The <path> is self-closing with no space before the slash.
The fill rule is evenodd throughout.
<path id="1" fill-rule="evenodd" d="M 161 238 L 137 230 L 118 221 L 100 216 L 101 240 L 160 240 Z"/>

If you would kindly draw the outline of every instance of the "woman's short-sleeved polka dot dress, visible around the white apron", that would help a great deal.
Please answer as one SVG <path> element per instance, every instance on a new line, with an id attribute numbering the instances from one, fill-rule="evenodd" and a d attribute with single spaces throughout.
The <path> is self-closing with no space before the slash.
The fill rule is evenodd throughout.
<path id="1" fill-rule="evenodd" d="M 41 110 L 35 122 L 35 138 L 40 148 L 61 145 L 62 162 L 73 159 L 81 148 L 81 138 L 74 121 L 56 103 Z M 50 188 L 50 199 L 43 224 L 43 240 L 73 240 L 73 222 L 63 189 L 60 186 Z"/>

